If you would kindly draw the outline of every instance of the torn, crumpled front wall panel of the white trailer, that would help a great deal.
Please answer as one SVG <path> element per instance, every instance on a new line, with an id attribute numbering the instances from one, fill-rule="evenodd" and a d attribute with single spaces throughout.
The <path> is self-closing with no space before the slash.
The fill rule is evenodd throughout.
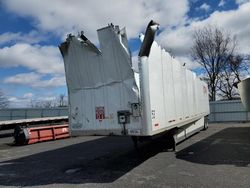
<path id="1" fill-rule="evenodd" d="M 97 31 L 100 49 L 81 33 L 70 36 L 64 53 L 70 103 L 71 131 L 122 134 L 117 112 L 139 104 L 139 89 L 132 70 L 125 29 L 109 25 Z M 60 46 L 60 50 L 64 43 Z M 96 110 L 99 109 L 99 110 Z M 101 109 L 101 110 L 100 110 Z M 140 129 L 140 117 L 127 128 Z M 100 133 L 101 134 L 101 133 Z"/>

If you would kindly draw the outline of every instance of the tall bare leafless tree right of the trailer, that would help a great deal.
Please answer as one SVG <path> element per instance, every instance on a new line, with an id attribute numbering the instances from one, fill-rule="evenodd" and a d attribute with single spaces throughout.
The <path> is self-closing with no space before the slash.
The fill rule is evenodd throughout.
<path id="1" fill-rule="evenodd" d="M 216 100 L 219 74 L 233 55 L 236 44 L 235 38 L 215 26 L 207 26 L 194 33 L 191 53 L 206 71 L 211 101 Z"/>

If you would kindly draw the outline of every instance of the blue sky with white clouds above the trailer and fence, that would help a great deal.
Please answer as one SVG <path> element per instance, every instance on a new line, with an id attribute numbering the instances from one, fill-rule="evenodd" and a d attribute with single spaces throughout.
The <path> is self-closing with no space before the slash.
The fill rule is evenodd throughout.
<path id="1" fill-rule="evenodd" d="M 248 0 L 0 1 L 0 89 L 11 107 L 67 95 L 57 46 L 68 33 L 81 30 L 98 43 L 96 30 L 111 22 L 126 26 L 133 59 L 139 33 L 151 19 L 161 25 L 158 43 L 190 69 L 199 69 L 190 59 L 192 33 L 208 24 L 230 31 L 238 39 L 237 50 L 249 54 L 249 12 Z"/>

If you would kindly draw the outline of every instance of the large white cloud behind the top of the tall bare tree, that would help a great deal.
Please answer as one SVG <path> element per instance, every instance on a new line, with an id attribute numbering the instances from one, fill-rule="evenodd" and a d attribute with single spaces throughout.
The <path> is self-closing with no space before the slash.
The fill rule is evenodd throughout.
<path id="1" fill-rule="evenodd" d="M 189 57 L 194 30 L 211 24 L 236 35 L 239 44 L 238 52 L 250 54 L 249 12 L 250 3 L 242 4 L 236 10 L 216 11 L 207 19 L 191 20 L 188 26 L 179 26 L 175 30 L 164 30 L 157 40 L 166 49 L 170 49 L 176 57 Z"/>

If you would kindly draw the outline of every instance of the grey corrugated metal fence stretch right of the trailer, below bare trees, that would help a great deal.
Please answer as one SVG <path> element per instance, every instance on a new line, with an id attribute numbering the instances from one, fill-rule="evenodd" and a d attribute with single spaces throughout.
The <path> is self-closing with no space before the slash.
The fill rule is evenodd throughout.
<path id="1" fill-rule="evenodd" d="M 210 122 L 250 121 L 250 112 L 245 111 L 240 100 L 210 102 Z"/>

